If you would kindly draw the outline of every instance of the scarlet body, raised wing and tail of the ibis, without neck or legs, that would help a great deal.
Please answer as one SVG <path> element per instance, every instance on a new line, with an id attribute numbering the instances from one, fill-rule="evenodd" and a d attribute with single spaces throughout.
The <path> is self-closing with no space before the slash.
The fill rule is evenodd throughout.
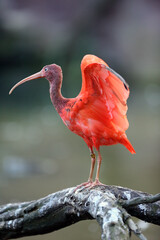
<path id="1" fill-rule="evenodd" d="M 84 56 L 81 71 L 80 94 L 70 99 L 68 108 L 64 108 L 63 121 L 89 147 L 99 149 L 101 145 L 121 143 L 135 153 L 125 134 L 129 126 L 126 117 L 127 83 L 94 55 Z"/>

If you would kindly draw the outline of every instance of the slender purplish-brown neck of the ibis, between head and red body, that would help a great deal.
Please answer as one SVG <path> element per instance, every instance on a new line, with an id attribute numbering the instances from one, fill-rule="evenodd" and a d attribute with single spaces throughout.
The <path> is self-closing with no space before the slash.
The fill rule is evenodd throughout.
<path id="1" fill-rule="evenodd" d="M 50 98 L 56 111 L 60 114 L 68 100 L 61 94 L 62 78 L 50 83 Z"/>

